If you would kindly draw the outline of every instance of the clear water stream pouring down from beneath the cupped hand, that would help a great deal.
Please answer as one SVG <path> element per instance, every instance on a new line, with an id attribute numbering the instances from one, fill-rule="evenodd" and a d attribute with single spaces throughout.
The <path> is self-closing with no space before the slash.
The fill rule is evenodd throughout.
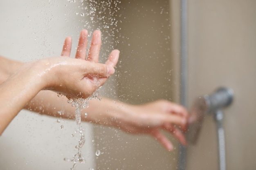
<path id="1" fill-rule="evenodd" d="M 90 99 L 101 100 L 99 91 L 98 90 L 95 91 L 87 99 L 79 98 L 79 99 L 68 99 L 67 100 L 68 103 L 71 103 L 72 106 L 76 107 L 75 122 L 76 122 L 76 125 L 78 126 L 77 132 L 79 132 L 79 135 L 80 135 L 80 140 L 78 141 L 78 145 L 75 146 L 75 148 L 78 150 L 77 153 L 74 155 L 74 157 L 72 159 L 64 158 L 65 161 L 74 162 L 74 165 L 72 168 L 70 168 L 70 170 L 75 170 L 78 163 L 85 163 L 85 158 L 82 155 L 82 147 L 85 144 L 85 134 L 84 134 L 85 129 L 81 126 L 81 110 L 89 107 L 88 101 Z M 87 113 L 86 113 L 86 115 L 87 115 Z M 72 137 L 73 137 L 73 134 L 72 134 Z"/>

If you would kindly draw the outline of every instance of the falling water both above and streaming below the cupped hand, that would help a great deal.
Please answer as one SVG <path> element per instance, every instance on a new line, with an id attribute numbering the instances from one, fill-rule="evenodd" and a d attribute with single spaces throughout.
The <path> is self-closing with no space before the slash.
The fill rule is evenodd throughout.
<path id="1" fill-rule="evenodd" d="M 114 44 L 118 43 L 118 37 L 115 37 L 116 33 L 119 32 L 117 29 L 118 20 L 116 12 L 119 10 L 117 5 L 121 3 L 120 0 L 67 0 L 70 3 L 77 3 L 80 11 L 76 11 L 76 15 L 79 17 L 79 21 L 83 24 L 83 28 L 88 30 L 88 37 L 92 35 L 93 30 L 99 29 L 102 32 L 102 43 L 108 43 L 108 48 L 105 49 L 104 55 L 108 56 L 107 53 L 114 48 Z M 66 5 L 67 6 L 67 5 Z M 90 43 L 88 43 L 90 44 Z M 58 94 L 58 96 L 61 94 Z M 77 125 L 77 132 L 79 133 L 78 145 L 75 146 L 77 153 L 72 158 L 64 158 L 65 161 L 74 162 L 71 170 L 75 170 L 78 163 L 85 163 L 85 158 L 82 155 L 82 147 L 85 144 L 85 129 L 81 126 L 81 110 L 89 107 L 88 101 L 90 99 L 100 99 L 99 91 L 95 91 L 87 99 L 69 99 L 67 102 L 72 104 L 76 108 L 75 111 L 75 122 Z M 74 135 L 72 135 L 74 136 Z M 101 153 L 99 150 L 96 152 L 96 156 Z"/>

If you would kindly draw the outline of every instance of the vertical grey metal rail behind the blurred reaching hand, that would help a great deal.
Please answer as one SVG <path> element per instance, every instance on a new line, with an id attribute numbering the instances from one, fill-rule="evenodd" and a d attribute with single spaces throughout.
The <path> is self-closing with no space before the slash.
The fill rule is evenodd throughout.
<path id="1" fill-rule="evenodd" d="M 187 0 L 181 0 L 180 103 L 187 107 Z M 180 145 L 178 170 L 186 169 L 186 148 Z"/>

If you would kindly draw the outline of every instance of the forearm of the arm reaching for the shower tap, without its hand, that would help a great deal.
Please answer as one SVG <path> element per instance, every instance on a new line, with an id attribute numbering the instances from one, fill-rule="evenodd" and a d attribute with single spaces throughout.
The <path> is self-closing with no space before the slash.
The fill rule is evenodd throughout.
<path id="1" fill-rule="evenodd" d="M 65 119 L 74 119 L 75 117 L 75 107 L 67 103 L 65 96 L 58 97 L 57 93 L 52 91 L 40 91 L 25 108 L 40 114 Z M 87 116 L 84 116 L 85 113 Z M 124 122 L 124 120 L 132 119 L 130 105 L 104 97 L 101 101 L 99 99 L 89 100 L 89 107 L 83 109 L 81 115 L 82 121 L 106 126 L 118 126 L 119 122 L 117 121 Z"/>

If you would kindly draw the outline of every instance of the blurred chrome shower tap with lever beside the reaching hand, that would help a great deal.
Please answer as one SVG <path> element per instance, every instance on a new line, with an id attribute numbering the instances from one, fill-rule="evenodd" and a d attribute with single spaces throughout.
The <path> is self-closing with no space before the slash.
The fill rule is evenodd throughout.
<path id="1" fill-rule="evenodd" d="M 195 100 L 190 109 L 189 128 L 186 132 L 186 139 L 189 143 L 196 143 L 205 116 L 229 106 L 233 101 L 233 96 L 232 89 L 218 88 L 215 93 L 204 95 Z"/>

